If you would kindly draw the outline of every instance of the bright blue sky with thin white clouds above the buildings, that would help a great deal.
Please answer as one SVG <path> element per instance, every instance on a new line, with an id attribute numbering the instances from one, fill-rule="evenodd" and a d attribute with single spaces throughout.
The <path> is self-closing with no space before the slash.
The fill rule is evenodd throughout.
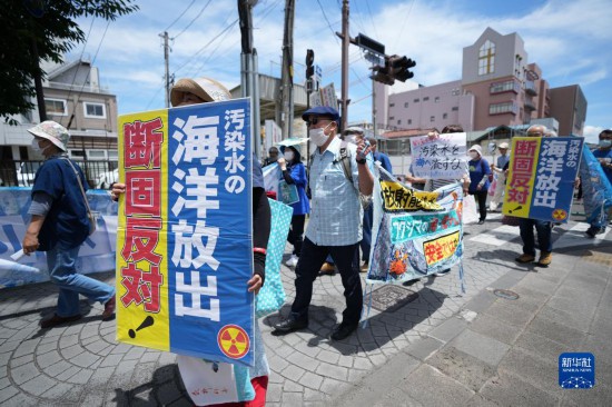
<path id="1" fill-rule="evenodd" d="M 119 113 L 164 107 L 164 50 L 159 33 L 171 42 L 170 72 L 176 78 L 208 76 L 228 88 L 240 81 L 240 30 L 235 0 L 148 0 L 140 10 L 107 24 L 80 20 L 89 33 L 68 59 L 81 52 L 95 59 L 100 81 L 118 97 Z M 254 8 L 254 46 L 259 71 L 280 76 L 283 0 L 259 0 Z M 185 14 L 179 16 L 185 11 Z M 198 17 L 199 14 L 199 17 Z M 491 27 L 502 34 L 517 32 L 529 61 L 536 62 L 551 87 L 579 83 L 589 102 L 585 136 L 592 140 L 612 128 L 612 1 L 416 1 L 352 0 L 351 36 L 364 33 L 386 46 L 386 53 L 417 62 L 414 82 L 425 86 L 461 78 L 463 47 Z M 315 51 L 323 85 L 340 89 L 342 0 L 296 0 L 295 81 L 304 81 L 306 49 Z M 189 26 L 190 23 L 190 26 Z M 187 29 L 185 29 L 189 26 Z M 608 27 L 608 28 L 606 28 Z M 349 49 L 348 121 L 371 120 L 369 62 Z M 398 83 L 391 92 L 414 83 Z"/>

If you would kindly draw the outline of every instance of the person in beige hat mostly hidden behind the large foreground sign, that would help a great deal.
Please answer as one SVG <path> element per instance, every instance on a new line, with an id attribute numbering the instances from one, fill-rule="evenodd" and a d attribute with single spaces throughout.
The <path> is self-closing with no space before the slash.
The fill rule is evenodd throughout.
<path id="1" fill-rule="evenodd" d="M 227 88 L 221 83 L 210 78 L 179 79 L 170 90 L 170 101 L 172 107 L 229 99 L 231 99 L 229 90 L 227 90 Z M 255 155 L 253 156 L 251 162 L 254 270 L 253 277 L 247 281 L 247 290 L 257 295 L 265 280 L 266 248 L 268 246 L 268 238 L 270 234 L 270 207 L 266 197 L 261 166 Z M 117 200 L 118 197 L 125 192 L 125 183 L 115 183 L 112 186 L 111 197 Z M 266 404 L 269 367 L 257 321 L 255 322 L 254 331 L 254 349 L 256 350 L 255 366 L 249 368 L 249 378 L 255 390 L 255 399 L 248 401 L 248 405 L 264 406 Z M 244 403 L 237 405 L 244 405 Z"/>

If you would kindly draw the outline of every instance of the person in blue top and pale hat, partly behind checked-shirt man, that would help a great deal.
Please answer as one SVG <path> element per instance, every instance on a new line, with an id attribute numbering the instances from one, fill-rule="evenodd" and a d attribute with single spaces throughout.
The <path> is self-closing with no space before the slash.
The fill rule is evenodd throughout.
<path id="1" fill-rule="evenodd" d="M 310 202 L 306 196 L 306 183 L 308 181 L 306 177 L 306 168 L 302 162 L 299 151 L 294 146 L 280 146 L 283 157 L 277 162 L 280 166 L 282 181 L 285 181 L 289 187 L 294 186 L 297 189 L 297 202 L 290 202 L 294 208 L 294 215 L 292 216 L 292 228 L 287 236 L 287 241 L 292 244 L 294 250 L 292 257 L 285 262 L 288 267 L 297 266 L 299 254 L 302 252 L 302 244 L 304 241 L 304 224 L 306 221 L 306 214 L 310 212 Z"/>

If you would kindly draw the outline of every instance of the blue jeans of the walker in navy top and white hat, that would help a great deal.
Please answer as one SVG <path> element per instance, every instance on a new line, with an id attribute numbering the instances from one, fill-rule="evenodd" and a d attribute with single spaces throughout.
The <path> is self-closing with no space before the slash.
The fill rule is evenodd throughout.
<path id="1" fill-rule="evenodd" d="M 47 251 L 47 266 L 51 281 L 59 287 L 58 309 L 60 317 L 79 314 L 79 294 L 92 301 L 106 304 L 115 295 L 115 287 L 77 272 L 75 267 L 79 246 L 73 249 L 55 247 Z"/>

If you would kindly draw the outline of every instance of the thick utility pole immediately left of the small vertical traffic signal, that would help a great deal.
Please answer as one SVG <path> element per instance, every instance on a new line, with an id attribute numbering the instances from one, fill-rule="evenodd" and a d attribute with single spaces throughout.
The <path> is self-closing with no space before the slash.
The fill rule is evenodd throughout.
<path id="1" fill-rule="evenodd" d="M 283 138 L 293 135 L 294 123 L 294 14 L 295 0 L 285 0 L 285 30 L 283 32 L 283 70 L 280 76 Z"/>

